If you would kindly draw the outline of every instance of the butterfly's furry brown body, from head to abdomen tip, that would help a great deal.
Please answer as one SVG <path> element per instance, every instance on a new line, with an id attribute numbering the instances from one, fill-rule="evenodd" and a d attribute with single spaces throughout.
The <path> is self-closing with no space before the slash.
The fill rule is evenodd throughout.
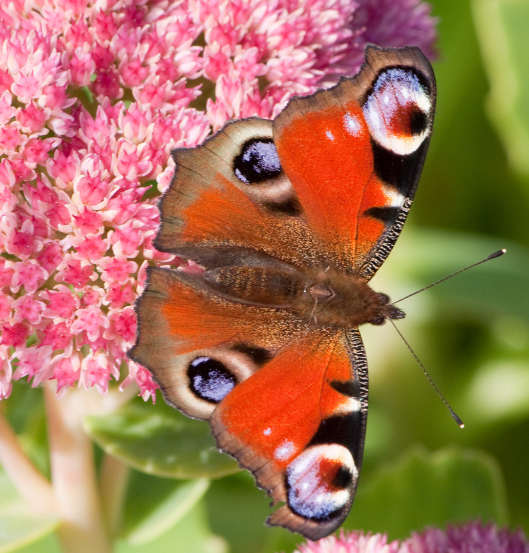
<path id="1" fill-rule="evenodd" d="M 375 292 L 360 276 L 328 265 L 303 270 L 282 262 L 220 267 L 206 270 L 204 279 L 223 298 L 295 311 L 310 325 L 351 328 L 404 317 L 386 294 Z"/>

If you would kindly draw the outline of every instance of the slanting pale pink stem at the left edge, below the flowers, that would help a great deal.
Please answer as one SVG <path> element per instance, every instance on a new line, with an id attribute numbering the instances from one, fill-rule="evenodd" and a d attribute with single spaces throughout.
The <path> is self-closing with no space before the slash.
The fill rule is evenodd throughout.
<path id="1" fill-rule="evenodd" d="M 0 465 L 37 515 L 58 512 L 53 489 L 22 449 L 17 435 L 0 413 Z"/>

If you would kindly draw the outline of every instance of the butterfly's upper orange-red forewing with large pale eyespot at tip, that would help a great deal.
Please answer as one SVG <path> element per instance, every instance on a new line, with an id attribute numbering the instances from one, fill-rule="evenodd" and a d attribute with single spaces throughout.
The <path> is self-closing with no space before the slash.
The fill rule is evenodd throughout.
<path id="1" fill-rule="evenodd" d="M 274 143 L 308 226 L 369 280 L 406 220 L 432 132 L 435 79 L 418 48 L 368 46 L 359 74 L 294 98 Z"/>

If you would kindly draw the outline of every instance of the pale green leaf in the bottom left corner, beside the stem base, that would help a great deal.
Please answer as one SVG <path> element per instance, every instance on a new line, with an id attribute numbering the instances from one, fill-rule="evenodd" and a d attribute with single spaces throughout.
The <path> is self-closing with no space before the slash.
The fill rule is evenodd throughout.
<path id="1" fill-rule="evenodd" d="M 15 551 L 51 534 L 60 524 L 58 517 L 37 517 L 0 471 L 0 553 Z"/>

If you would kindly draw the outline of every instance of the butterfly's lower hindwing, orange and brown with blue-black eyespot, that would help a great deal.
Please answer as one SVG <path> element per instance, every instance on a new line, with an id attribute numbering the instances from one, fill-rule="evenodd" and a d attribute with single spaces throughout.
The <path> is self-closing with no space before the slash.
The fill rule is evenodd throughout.
<path id="1" fill-rule="evenodd" d="M 136 312 L 129 357 L 148 367 L 167 403 L 204 420 L 236 384 L 306 332 L 289 312 L 220 298 L 201 275 L 155 267 Z"/>

